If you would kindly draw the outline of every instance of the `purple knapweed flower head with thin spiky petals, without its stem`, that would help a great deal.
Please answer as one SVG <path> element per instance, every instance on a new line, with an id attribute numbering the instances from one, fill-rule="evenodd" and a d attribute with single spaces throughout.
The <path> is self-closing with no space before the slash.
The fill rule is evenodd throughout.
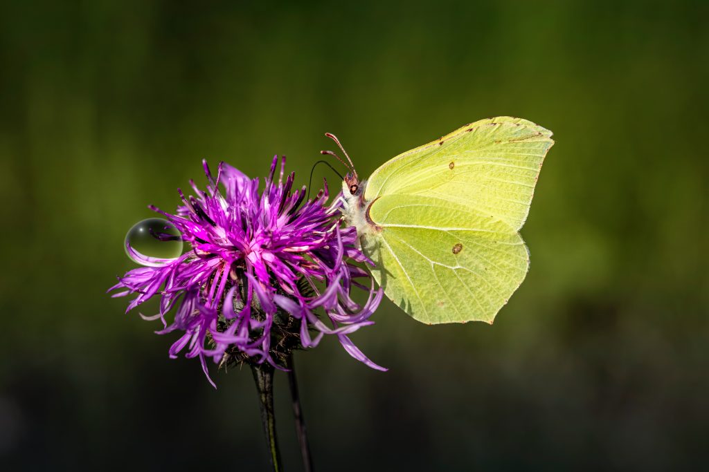
<path id="1" fill-rule="evenodd" d="M 374 323 L 369 317 L 382 292 L 363 268 L 372 261 L 359 251 L 356 230 L 341 227 L 341 198 L 328 205 L 327 186 L 313 200 L 306 200 L 305 187 L 291 192 L 294 173 L 283 181 L 284 158 L 274 181 L 278 161 L 260 194 L 258 178 L 226 163 L 213 178 L 203 162 L 206 191 L 194 182 L 194 195 L 178 189 L 182 205 L 175 214 L 150 207 L 177 227 L 190 250 L 174 260 L 144 258 L 151 267 L 130 270 L 109 291 L 137 294 L 127 311 L 160 297 L 160 312 L 141 316 L 162 320 L 159 334 L 182 333 L 169 356 L 186 349 L 186 357 L 199 357 L 208 379 L 208 357 L 282 367 L 291 350 L 314 347 L 325 334 L 336 335 L 355 359 L 384 370 L 348 337 Z M 367 292 L 363 304 L 352 299 L 353 287 Z"/>

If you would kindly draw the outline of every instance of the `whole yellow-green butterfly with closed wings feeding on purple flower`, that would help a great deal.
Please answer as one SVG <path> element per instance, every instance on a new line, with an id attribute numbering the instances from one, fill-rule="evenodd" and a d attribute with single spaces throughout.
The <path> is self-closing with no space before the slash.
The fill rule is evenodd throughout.
<path id="1" fill-rule="evenodd" d="M 515 117 L 476 121 L 399 154 L 367 180 L 327 136 L 350 162 L 342 217 L 386 296 L 423 323 L 492 323 L 527 275 L 519 231 L 552 132 Z"/>

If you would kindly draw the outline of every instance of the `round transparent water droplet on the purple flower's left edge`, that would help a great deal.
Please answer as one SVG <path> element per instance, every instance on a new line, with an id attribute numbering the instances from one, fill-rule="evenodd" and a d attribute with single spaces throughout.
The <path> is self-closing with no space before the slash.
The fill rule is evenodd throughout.
<path id="1" fill-rule="evenodd" d="M 179 238 L 179 231 L 167 219 L 144 219 L 125 235 L 125 253 L 140 265 L 161 267 L 182 254 Z"/>

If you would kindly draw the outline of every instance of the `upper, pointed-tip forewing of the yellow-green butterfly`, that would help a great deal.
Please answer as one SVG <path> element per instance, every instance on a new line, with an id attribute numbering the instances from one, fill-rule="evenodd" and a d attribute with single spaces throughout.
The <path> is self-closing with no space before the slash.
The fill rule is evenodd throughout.
<path id="1" fill-rule="evenodd" d="M 554 144 L 551 135 L 519 118 L 472 123 L 385 163 L 369 178 L 365 199 L 438 197 L 518 230 L 527 218 L 542 161 Z"/>

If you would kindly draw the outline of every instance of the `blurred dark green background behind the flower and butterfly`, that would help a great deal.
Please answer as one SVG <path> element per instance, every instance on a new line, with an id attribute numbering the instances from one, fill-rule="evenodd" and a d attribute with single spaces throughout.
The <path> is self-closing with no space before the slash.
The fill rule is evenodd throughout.
<path id="1" fill-rule="evenodd" d="M 167 358 L 104 293 L 201 159 L 368 175 L 482 117 L 554 131 L 494 326 L 389 301 L 298 375 L 320 471 L 667 470 L 709 459 L 709 4 L 27 1 L 0 15 L 5 470 L 265 470 L 250 372 Z M 337 178 L 320 167 L 316 176 Z M 285 376 L 277 414 L 300 463 Z"/>

